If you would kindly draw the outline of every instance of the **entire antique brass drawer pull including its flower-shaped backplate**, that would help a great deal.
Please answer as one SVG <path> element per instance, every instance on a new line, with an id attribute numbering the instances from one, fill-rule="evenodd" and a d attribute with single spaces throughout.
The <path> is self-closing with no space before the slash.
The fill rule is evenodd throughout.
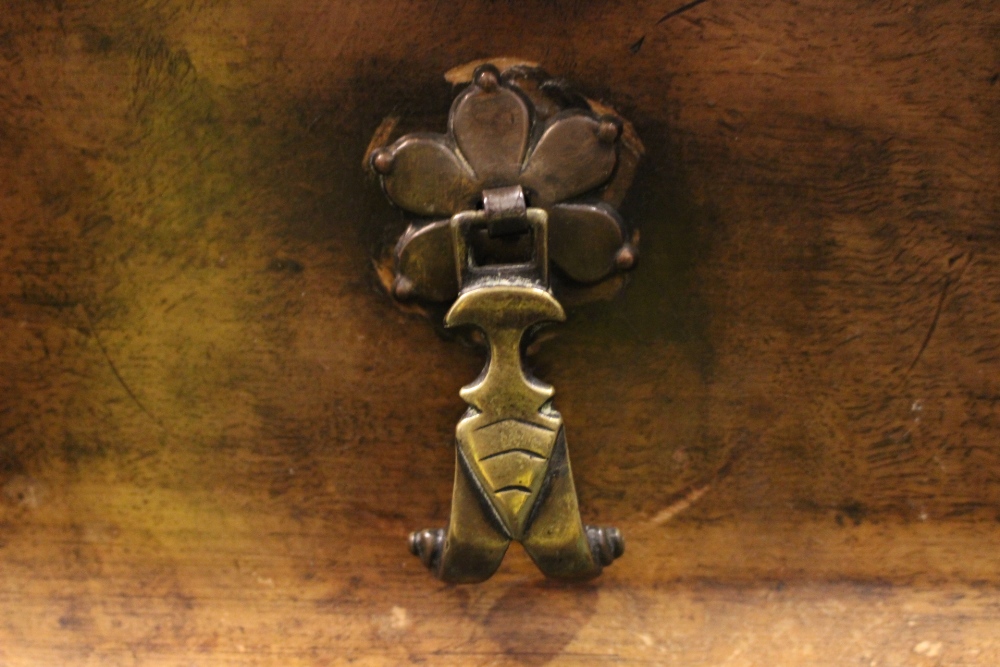
<path id="1" fill-rule="evenodd" d="M 554 391 L 522 360 L 539 325 L 565 319 L 555 290 L 620 287 L 635 263 L 614 205 L 642 147 L 595 107 L 537 68 L 484 64 L 447 134 L 404 135 L 370 155 L 386 194 L 415 216 L 395 248 L 393 294 L 451 303 L 445 326 L 475 327 L 489 349 L 461 391 L 448 527 L 410 536 L 445 581 L 489 578 L 512 540 L 558 578 L 596 576 L 624 551 L 616 528 L 583 524 Z"/>

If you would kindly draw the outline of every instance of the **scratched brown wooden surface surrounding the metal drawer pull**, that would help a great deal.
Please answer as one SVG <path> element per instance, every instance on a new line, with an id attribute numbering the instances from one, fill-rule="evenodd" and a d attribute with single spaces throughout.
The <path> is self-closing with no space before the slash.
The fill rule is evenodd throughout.
<path id="1" fill-rule="evenodd" d="M 2 0 L 0 665 L 1000 664 L 1000 8 L 682 5 Z M 648 148 L 533 361 L 583 586 L 405 549 L 482 360 L 361 156 L 493 55 Z"/>

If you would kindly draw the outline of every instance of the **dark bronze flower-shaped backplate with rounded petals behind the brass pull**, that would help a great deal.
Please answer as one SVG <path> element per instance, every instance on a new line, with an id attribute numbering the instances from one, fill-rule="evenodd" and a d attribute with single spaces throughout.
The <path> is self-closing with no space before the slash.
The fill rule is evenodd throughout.
<path id="1" fill-rule="evenodd" d="M 407 134 L 371 153 L 389 199 L 417 218 L 395 248 L 394 294 L 454 299 L 448 218 L 508 186 L 548 213 L 549 259 L 568 282 L 593 285 L 631 268 L 635 239 L 614 206 L 641 153 L 620 117 L 541 70 L 481 65 L 455 99 L 447 133 Z"/>

